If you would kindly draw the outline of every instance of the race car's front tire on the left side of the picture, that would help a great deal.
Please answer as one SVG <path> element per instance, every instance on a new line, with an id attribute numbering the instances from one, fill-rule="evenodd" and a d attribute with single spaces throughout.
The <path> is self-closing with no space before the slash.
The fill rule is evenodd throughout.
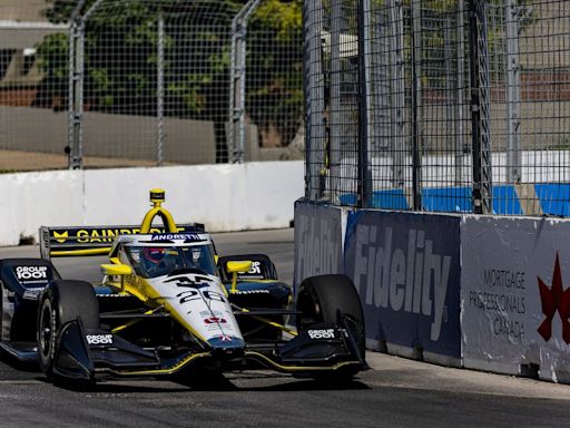
<path id="1" fill-rule="evenodd" d="M 77 319 L 83 329 L 99 328 L 99 303 L 92 285 L 85 281 L 50 282 L 40 298 L 37 323 L 38 360 L 49 380 L 53 380 L 61 328 Z"/>

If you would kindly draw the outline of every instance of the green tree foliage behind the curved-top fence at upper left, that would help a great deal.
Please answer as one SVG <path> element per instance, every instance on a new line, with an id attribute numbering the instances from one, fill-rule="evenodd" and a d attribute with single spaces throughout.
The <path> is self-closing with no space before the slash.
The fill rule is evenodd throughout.
<path id="1" fill-rule="evenodd" d="M 69 22 L 78 4 L 75 0 L 46 3 L 45 14 L 51 22 Z M 94 3 L 95 0 L 87 0 L 81 12 Z M 232 18 L 245 3 L 246 0 L 100 3 L 86 22 L 86 107 L 91 111 L 156 114 L 158 17 L 163 16 L 165 114 L 215 120 L 224 127 L 228 120 L 230 46 L 214 26 L 229 31 Z M 106 9 L 109 6 L 115 10 Z M 302 118 L 302 0 L 264 0 L 247 28 L 247 66 L 256 67 L 255 75 L 263 76 L 247 80 L 247 114 L 262 128 L 276 127 L 284 143 L 295 134 Z M 216 21 L 212 10 L 229 13 L 225 21 Z M 184 27 L 175 29 L 180 25 Z M 269 43 L 268 54 L 259 54 L 263 43 Z M 38 47 L 42 70 L 47 78 L 60 80 L 57 87 L 63 88 L 58 94 L 62 98 L 67 97 L 68 65 L 61 58 L 67 58 L 67 52 L 63 35 L 47 38 Z M 284 120 L 283 115 L 293 115 L 294 119 Z"/>

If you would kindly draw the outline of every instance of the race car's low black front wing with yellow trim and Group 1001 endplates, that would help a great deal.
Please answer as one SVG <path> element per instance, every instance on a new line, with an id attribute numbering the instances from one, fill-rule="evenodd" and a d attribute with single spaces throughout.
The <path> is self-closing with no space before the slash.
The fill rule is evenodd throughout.
<path id="1" fill-rule="evenodd" d="M 83 330 L 79 320 L 63 325 L 56 347 L 53 374 L 92 381 L 105 377 L 168 376 L 202 364 L 219 371 L 271 369 L 296 376 L 357 372 L 367 369 L 351 329 L 314 324 L 289 341 L 212 348 L 160 358 L 105 330 Z"/>

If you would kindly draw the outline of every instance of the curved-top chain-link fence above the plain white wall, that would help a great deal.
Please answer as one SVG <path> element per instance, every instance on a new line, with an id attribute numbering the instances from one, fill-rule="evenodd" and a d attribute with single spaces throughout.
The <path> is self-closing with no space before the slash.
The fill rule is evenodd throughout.
<path id="1" fill-rule="evenodd" d="M 36 14 L 0 21 L 0 169 L 273 159 L 304 130 L 301 1 L 46 0 Z"/>

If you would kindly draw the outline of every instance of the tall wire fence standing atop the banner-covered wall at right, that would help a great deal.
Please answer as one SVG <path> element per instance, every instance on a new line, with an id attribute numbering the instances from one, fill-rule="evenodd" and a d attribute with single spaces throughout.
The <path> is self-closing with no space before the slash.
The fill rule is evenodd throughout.
<path id="1" fill-rule="evenodd" d="M 307 197 L 568 215 L 570 3 L 305 2 Z"/>

